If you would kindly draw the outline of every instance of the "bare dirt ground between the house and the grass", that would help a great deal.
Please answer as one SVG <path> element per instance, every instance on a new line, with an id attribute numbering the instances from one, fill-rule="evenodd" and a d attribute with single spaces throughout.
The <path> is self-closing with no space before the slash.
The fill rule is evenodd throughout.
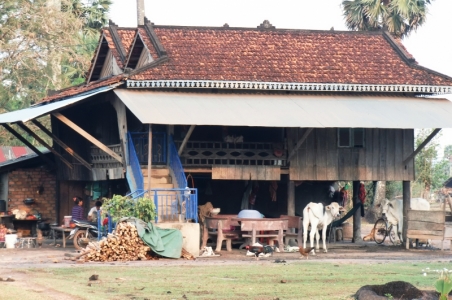
<path id="1" fill-rule="evenodd" d="M 372 225 L 363 224 L 362 235 L 368 234 Z M 61 245 L 61 241 L 57 240 Z M 327 244 L 328 253 L 322 250 L 315 255 L 310 256 L 309 260 L 315 262 L 337 262 L 339 264 L 347 263 L 385 263 L 385 262 L 444 262 L 452 263 L 452 251 L 449 242 L 445 242 L 445 251 L 440 250 L 441 241 L 433 241 L 433 247 L 410 248 L 406 250 L 402 246 L 394 246 L 388 242 L 383 245 L 377 245 L 375 242 L 352 243 L 345 240 L 337 243 Z M 27 280 L 29 272 L 27 269 L 51 269 L 51 268 L 84 268 L 93 267 L 102 264 L 102 266 L 114 268 L 115 266 L 215 266 L 215 265 L 254 265 L 254 259 L 245 256 L 246 250 L 234 248 L 232 252 L 222 251 L 220 256 L 199 257 L 195 261 L 184 259 L 160 259 L 153 261 L 136 262 L 112 262 L 112 263 L 76 263 L 70 260 L 70 257 L 77 252 L 72 243 L 69 242 L 67 248 L 61 246 L 55 247 L 52 240 L 46 240 L 41 248 L 32 249 L 0 249 L 0 277 L 13 277 L 17 284 L 21 284 L 27 290 L 41 291 L 43 287 Z M 287 263 L 293 263 L 300 260 L 299 253 L 274 253 L 272 257 L 262 258 L 261 263 L 273 263 L 275 260 L 285 260 Z M 45 290 L 47 299 L 78 299 L 68 296 L 57 290 Z M 11 299 L 14 299 L 11 298 Z"/>

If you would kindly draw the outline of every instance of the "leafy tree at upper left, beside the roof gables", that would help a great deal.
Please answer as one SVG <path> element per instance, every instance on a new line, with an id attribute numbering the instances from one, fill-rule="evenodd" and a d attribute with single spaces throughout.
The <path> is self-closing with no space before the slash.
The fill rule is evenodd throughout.
<path id="1" fill-rule="evenodd" d="M 82 83 L 110 0 L 0 2 L 0 113 Z M 48 119 L 44 123 L 49 124 Z M 26 136 L 26 135 L 25 135 Z M 21 144 L 0 130 L 0 144 Z"/>

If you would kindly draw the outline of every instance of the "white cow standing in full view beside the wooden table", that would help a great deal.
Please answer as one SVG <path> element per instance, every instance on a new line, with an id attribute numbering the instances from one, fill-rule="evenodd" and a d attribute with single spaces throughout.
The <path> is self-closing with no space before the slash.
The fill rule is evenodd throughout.
<path id="1" fill-rule="evenodd" d="M 303 209 L 303 248 L 306 248 L 306 240 L 308 239 L 308 226 L 311 224 L 310 242 L 311 247 L 314 247 L 314 235 L 316 237 L 316 250 L 319 250 L 319 227 L 322 228 L 322 242 L 323 251 L 326 249 L 326 228 L 331 224 L 335 217 L 340 215 L 343 207 L 337 202 L 332 202 L 330 205 L 324 206 L 322 203 L 311 202 Z"/>

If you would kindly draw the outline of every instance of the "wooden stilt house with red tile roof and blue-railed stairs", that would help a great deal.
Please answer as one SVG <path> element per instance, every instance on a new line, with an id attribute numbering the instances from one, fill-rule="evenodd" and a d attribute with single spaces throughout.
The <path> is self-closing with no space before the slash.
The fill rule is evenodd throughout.
<path id="1" fill-rule="evenodd" d="M 409 203 L 414 128 L 452 126 L 452 103 L 425 96 L 451 92 L 452 78 L 419 66 L 384 31 L 146 20 L 110 23 L 86 83 L 0 123 L 14 131 L 8 124 L 30 121 L 53 139 L 58 219 L 74 193 L 105 182 L 97 195 L 151 190 L 159 223 L 196 221 L 207 201 L 238 213 L 250 180 L 257 210 L 295 215 L 335 181 L 403 181 Z M 51 132 L 38 121 L 48 114 Z M 184 216 L 174 195 L 188 197 Z"/>

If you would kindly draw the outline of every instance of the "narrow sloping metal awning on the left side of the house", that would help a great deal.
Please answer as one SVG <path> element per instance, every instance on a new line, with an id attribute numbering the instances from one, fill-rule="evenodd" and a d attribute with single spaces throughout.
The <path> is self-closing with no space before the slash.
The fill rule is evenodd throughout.
<path id="1" fill-rule="evenodd" d="M 30 106 L 28 108 L 24 108 L 21 110 L 4 113 L 4 114 L 0 115 L 0 124 L 15 123 L 15 122 L 27 122 L 27 121 L 39 118 L 43 115 L 46 115 L 50 112 L 56 111 L 62 107 L 74 104 L 80 100 L 86 99 L 93 95 L 107 92 L 107 91 L 115 88 L 116 86 L 117 85 L 101 87 L 101 88 L 92 90 L 90 92 L 84 93 L 82 95 L 73 96 L 73 97 L 65 99 L 65 100 L 51 102 L 51 103 L 45 103 L 45 102 L 42 104 L 39 103 L 37 105 Z"/>

